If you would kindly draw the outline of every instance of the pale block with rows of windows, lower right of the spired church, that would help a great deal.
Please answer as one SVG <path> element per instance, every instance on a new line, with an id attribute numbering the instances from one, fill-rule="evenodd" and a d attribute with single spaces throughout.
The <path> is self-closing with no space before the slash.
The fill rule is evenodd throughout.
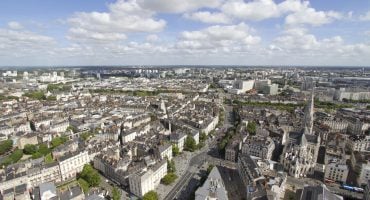
<path id="1" fill-rule="evenodd" d="M 325 167 L 325 179 L 346 183 L 348 172 L 349 169 L 345 163 L 331 162 Z"/>

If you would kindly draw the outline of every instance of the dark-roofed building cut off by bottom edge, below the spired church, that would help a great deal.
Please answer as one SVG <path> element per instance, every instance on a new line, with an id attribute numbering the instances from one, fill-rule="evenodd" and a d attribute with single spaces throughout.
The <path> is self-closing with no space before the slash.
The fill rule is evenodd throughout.
<path id="1" fill-rule="evenodd" d="M 343 197 L 336 195 L 325 185 L 321 186 L 305 186 L 301 194 L 299 195 L 299 200 L 343 200 Z"/>

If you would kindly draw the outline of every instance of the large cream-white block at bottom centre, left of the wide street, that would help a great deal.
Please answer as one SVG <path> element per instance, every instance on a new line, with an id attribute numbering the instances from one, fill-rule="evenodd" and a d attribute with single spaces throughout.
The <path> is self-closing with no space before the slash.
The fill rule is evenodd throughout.
<path id="1" fill-rule="evenodd" d="M 162 160 L 155 165 L 145 168 L 129 176 L 130 191 L 138 197 L 154 190 L 161 179 L 167 174 L 167 161 Z"/>

